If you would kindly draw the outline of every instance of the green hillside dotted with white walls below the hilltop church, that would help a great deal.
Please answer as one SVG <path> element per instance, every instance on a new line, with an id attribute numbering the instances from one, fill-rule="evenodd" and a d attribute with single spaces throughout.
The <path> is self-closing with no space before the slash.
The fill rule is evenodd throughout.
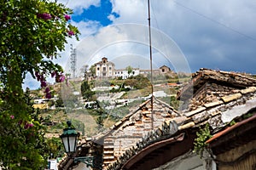
<path id="1" fill-rule="evenodd" d="M 183 81 L 188 81 L 184 77 Z M 154 84 L 154 96 L 177 108 L 175 99 L 180 84 L 177 78 L 168 80 L 156 80 Z M 134 110 L 151 94 L 150 82 L 147 78 L 136 77 L 127 80 L 93 80 L 90 81 L 90 91 L 94 88 L 91 99 L 83 99 L 81 92 L 81 80 L 69 80 L 68 83 L 56 83 L 50 85 L 54 98 L 45 100 L 46 108 L 40 108 L 40 116 L 47 126 L 47 137 L 58 137 L 66 126 L 67 120 L 73 122 L 74 127 L 82 134 L 90 136 L 108 127 L 113 126 L 123 116 Z M 149 85 L 149 86 L 148 86 Z M 106 87 L 102 90 L 100 87 Z M 114 88 L 118 87 L 118 88 Z M 136 88 L 134 88 L 136 87 Z M 44 99 L 44 89 L 34 90 L 32 99 Z M 86 103 L 96 102 L 96 108 L 85 108 Z M 42 104 L 40 104 L 42 105 Z"/>

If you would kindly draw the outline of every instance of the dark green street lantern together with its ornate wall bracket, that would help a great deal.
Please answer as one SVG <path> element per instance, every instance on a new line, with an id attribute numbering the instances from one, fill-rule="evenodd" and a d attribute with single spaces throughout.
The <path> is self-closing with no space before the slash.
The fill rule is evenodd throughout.
<path id="1" fill-rule="evenodd" d="M 75 128 L 71 127 L 71 122 L 67 121 L 67 128 L 64 128 L 63 133 L 61 134 L 61 140 L 65 148 L 65 152 L 68 156 L 72 156 L 77 149 L 77 139 L 79 134 L 75 131 Z M 74 162 L 84 162 L 87 167 L 96 167 L 94 162 L 94 156 L 83 156 L 83 157 L 74 157 Z M 100 168 L 102 169 L 101 166 Z"/>

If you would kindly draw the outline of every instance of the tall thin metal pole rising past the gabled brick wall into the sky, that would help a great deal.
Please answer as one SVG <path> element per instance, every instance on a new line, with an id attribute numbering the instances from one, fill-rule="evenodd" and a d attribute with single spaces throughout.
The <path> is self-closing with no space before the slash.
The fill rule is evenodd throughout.
<path id="1" fill-rule="evenodd" d="M 154 129 L 154 116 L 153 116 L 153 69 L 152 69 L 152 47 L 151 47 L 151 24 L 150 24 L 150 3 L 148 0 L 148 34 L 149 34 L 149 54 L 150 54 L 150 78 L 151 78 L 151 128 Z"/>

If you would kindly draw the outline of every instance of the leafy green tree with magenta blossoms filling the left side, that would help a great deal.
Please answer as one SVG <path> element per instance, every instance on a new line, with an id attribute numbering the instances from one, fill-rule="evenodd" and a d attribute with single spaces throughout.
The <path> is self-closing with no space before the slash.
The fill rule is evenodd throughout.
<path id="1" fill-rule="evenodd" d="M 53 62 L 67 37 L 78 39 L 70 23 L 72 10 L 49 0 L 0 2 L 0 167 L 44 169 L 44 130 L 34 116 L 22 83 L 30 73 L 51 94 L 46 77 L 62 82 L 60 65 Z"/>

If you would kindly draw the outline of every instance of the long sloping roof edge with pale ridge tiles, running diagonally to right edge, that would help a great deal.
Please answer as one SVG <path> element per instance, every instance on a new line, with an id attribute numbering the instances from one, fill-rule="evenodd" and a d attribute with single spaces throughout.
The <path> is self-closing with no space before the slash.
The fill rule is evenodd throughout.
<path id="1" fill-rule="evenodd" d="M 227 95 L 218 101 L 202 105 L 195 111 L 183 112 L 183 116 L 174 117 L 172 120 L 164 122 L 158 129 L 148 133 L 141 142 L 137 143 L 137 147 L 126 150 L 118 161 L 108 166 L 108 169 L 119 169 L 127 162 L 131 162 L 131 159 L 139 161 L 138 158 L 135 158 L 137 153 L 142 150 L 146 152 L 145 149 L 152 148 L 152 144 L 157 144 L 166 139 L 177 138 L 179 134 L 188 129 L 202 127 L 209 123 L 212 133 L 218 133 L 229 127 L 230 122 L 236 117 L 247 114 L 248 111 L 255 107 L 256 88 L 249 87 L 239 90 L 237 94 Z"/>

